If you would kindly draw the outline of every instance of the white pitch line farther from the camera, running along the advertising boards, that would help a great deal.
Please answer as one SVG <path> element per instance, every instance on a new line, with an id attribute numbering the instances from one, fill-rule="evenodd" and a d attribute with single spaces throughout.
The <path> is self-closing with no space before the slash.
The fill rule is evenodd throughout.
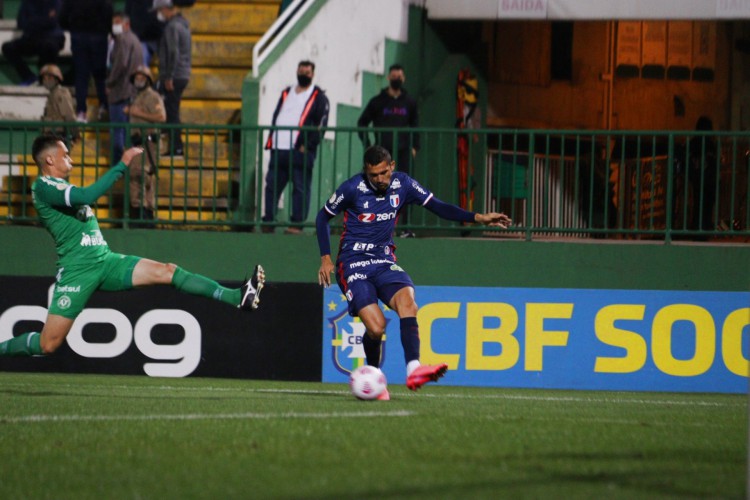
<path id="1" fill-rule="evenodd" d="M 3 385 L 4 387 L 38 387 L 31 383 L 14 383 Z M 348 390 L 334 390 L 334 389 L 273 389 L 273 388 L 243 388 L 243 387 L 185 387 L 185 386 L 171 386 L 171 385 L 159 385 L 159 386 L 130 386 L 130 385 L 74 385 L 74 384 L 55 384 L 55 388 L 66 388 L 75 390 L 86 390 L 86 389 L 101 389 L 111 391 L 112 389 L 125 389 L 125 390 L 159 390 L 159 391 L 190 391 L 190 392 L 246 392 L 246 393 L 268 393 L 268 394 L 310 394 L 310 395 L 336 395 L 336 394 L 350 394 Z M 704 400 L 689 400 L 689 401 L 678 401 L 668 399 L 643 399 L 643 398 L 628 398 L 628 397 L 611 397 L 611 396 L 534 396 L 534 395 L 518 395 L 518 394 L 467 394 L 467 393 L 427 393 L 420 391 L 419 393 L 407 392 L 399 394 L 399 397 L 419 397 L 419 398 L 438 398 L 438 399 L 500 399 L 510 401 L 540 401 L 540 402 L 551 402 L 551 403 L 612 403 L 612 404 L 641 404 L 641 405 L 653 405 L 653 406 L 707 406 L 707 407 L 747 407 L 747 400 L 738 398 L 735 401 L 719 402 L 719 401 L 704 401 Z"/>

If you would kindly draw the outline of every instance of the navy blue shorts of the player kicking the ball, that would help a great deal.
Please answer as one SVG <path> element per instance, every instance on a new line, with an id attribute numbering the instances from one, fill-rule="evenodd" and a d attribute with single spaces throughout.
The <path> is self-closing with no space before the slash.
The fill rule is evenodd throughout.
<path id="1" fill-rule="evenodd" d="M 414 288 L 411 277 L 392 258 L 367 255 L 336 261 L 336 281 L 352 316 L 378 299 L 388 305 L 402 288 Z"/>

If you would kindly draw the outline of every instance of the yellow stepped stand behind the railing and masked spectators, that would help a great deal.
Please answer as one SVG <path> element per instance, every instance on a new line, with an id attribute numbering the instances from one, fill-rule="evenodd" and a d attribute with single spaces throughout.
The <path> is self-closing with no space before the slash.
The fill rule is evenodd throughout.
<path id="1" fill-rule="evenodd" d="M 157 218 L 165 222 L 162 227 L 227 219 L 232 181 L 239 172 L 239 145 L 230 150 L 226 130 L 201 136 L 190 125 L 221 126 L 238 116 L 242 81 L 252 68 L 253 46 L 276 20 L 279 4 L 280 0 L 201 0 L 183 9 L 193 39 L 192 76 L 180 109 L 185 156 L 159 160 Z M 96 109 L 91 90 L 89 106 Z M 74 170 L 70 181 L 79 186 L 94 182 L 109 168 L 107 131 L 91 130 L 71 150 L 73 164 L 82 168 Z M 0 217 L 33 217 L 30 188 L 37 168 L 26 152 L 15 155 L 12 162 L 20 173 L 3 176 Z M 97 217 L 122 217 L 123 197 L 124 183 L 118 182 L 98 200 Z"/>

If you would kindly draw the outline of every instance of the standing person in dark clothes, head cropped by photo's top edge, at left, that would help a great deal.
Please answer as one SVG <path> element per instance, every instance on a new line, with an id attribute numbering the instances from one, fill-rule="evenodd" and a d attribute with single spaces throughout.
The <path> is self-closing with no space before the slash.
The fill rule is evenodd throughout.
<path id="1" fill-rule="evenodd" d="M 63 0 L 60 26 L 70 31 L 70 49 L 75 71 L 76 114 L 79 122 L 86 122 L 86 98 L 89 77 L 94 77 L 99 98 L 97 118 L 103 119 L 107 96 L 107 37 L 112 26 L 111 0 Z"/>

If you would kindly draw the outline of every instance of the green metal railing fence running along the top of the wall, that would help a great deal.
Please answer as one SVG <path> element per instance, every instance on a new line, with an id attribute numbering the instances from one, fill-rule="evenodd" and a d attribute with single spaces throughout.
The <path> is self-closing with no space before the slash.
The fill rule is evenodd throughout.
<path id="1" fill-rule="evenodd" d="M 0 123 L 0 222 L 35 222 L 30 186 L 38 172 L 30 150 L 40 126 Z M 71 145 L 72 183 L 87 185 L 109 167 L 111 124 L 45 126 L 68 132 L 80 128 L 80 138 Z M 122 126 L 126 137 L 138 128 Z M 145 194 L 138 181 L 148 174 L 141 172 L 135 174 L 140 179 L 118 183 L 97 202 L 94 208 L 103 223 L 266 231 L 297 226 L 311 231 L 315 214 L 336 186 L 361 171 L 363 133 L 373 137 L 371 129 L 323 130 L 298 196 L 309 212 L 292 220 L 290 182 L 264 221 L 264 192 L 274 187 L 273 179 L 267 185 L 267 170 L 278 161 L 265 149 L 269 134 L 291 135 L 295 141 L 301 133 L 300 142 L 309 145 L 318 130 L 183 125 L 184 156 L 173 157 L 163 151 L 178 128 L 159 128 L 161 135 L 152 136 L 151 147 L 157 165 L 156 218 L 143 220 L 142 210 L 132 210 Z M 437 197 L 475 211 L 504 211 L 514 220 L 507 230 L 487 231 L 409 207 L 408 224 L 402 217 L 399 226 L 420 235 L 750 240 L 750 134 L 427 128 L 384 133 L 392 134 L 394 150 L 399 141 L 411 150 L 418 134 L 416 157 L 402 156 L 407 159 L 399 163 L 410 162 L 414 177 Z M 295 175 L 290 160 L 275 167 L 290 179 Z"/>

